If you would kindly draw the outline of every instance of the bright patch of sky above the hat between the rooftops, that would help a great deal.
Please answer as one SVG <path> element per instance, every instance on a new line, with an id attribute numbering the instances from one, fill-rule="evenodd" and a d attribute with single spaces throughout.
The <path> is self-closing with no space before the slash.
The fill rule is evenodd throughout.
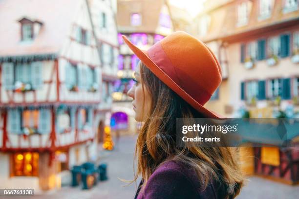
<path id="1" fill-rule="evenodd" d="M 195 17 L 202 9 L 205 0 L 169 0 L 169 2 L 179 8 L 186 9 L 192 17 Z"/>

